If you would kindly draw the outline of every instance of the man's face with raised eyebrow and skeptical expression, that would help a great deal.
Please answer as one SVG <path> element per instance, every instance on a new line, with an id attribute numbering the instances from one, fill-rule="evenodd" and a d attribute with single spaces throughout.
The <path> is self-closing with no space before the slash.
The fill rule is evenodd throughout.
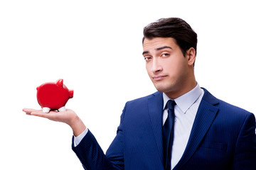
<path id="1" fill-rule="evenodd" d="M 183 56 L 174 38 L 145 39 L 143 51 L 146 71 L 158 91 L 170 98 L 187 92 L 193 75 L 193 63 L 191 65 L 189 54 Z"/>

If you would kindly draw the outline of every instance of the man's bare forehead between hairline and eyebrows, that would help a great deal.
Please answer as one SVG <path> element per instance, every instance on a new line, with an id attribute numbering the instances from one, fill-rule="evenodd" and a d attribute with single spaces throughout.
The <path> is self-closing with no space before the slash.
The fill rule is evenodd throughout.
<path id="1" fill-rule="evenodd" d="M 175 48 L 177 46 L 174 38 L 145 38 L 143 42 L 143 50 L 156 50 L 159 47 L 169 46 Z"/>

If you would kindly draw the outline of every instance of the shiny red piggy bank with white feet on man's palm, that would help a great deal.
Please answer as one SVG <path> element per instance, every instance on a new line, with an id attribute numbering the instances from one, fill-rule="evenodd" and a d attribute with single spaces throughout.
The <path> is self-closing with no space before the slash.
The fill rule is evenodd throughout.
<path id="1" fill-rule="evenodd" d="M 73 98 L 74 93 L 63 84 L 63 79 L 42 84 L 36 89 L 38 103 L 43 108 L 43 113 L 50 110 L 65 111 L 65 104 L 69 98 Z"/>

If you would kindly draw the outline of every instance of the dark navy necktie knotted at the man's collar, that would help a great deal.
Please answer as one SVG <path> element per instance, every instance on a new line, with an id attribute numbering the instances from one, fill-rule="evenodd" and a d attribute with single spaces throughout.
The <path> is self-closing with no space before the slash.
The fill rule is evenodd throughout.
<path id="1" fill-rule="evenodd" d="M 163 126 L 163 146 L 164 146 L 164 165 L 166 170 L 171 169 L 171 148 L 174 142 L 174 106 L 175 101 L 169 100 L 166 104 L 168 107 L 168 117 Z"/>

